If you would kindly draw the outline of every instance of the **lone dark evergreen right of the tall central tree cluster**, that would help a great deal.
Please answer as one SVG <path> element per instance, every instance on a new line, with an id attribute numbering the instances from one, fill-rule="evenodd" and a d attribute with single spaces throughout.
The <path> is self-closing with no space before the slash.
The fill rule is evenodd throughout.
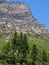
<path id="1" fill-rule="evenodd" d="M 33 44 L 32 53 L 31 53 L 32 65 L 36 65 L 35 62 L 37 60 L 37 55 L 38 55 L 37 47 L 35 44 Z"/>

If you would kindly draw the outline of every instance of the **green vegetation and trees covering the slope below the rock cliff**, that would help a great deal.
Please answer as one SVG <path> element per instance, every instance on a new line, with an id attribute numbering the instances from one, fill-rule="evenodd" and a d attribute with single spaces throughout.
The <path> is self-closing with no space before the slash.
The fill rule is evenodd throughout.
<path id="1" fill-rule="evenodd" d="M 16 31 L 7 41 L 0 38 L 0 64 L 49 65 L 49 40 Z"/>

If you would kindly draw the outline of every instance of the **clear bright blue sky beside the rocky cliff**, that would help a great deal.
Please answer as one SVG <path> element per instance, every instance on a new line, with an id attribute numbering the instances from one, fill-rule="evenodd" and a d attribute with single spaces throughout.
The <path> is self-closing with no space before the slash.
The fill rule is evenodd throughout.
<path id="1" fill-rule="evenodd" d="M 7 0 L 26 3 L 32 15 L 49 29 L 49 0 Z"/>

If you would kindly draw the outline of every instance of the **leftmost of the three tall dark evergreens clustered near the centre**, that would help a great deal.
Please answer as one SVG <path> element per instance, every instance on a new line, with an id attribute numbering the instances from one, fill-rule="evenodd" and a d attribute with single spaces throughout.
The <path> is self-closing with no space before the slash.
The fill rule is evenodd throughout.
<path id="1" fill-rule="evenodd" d="M 16 31 L 14 32 L 14 35 L 13 35 L 11 42 L 12 42 L 13 52 L 15 53 L 16 49 L 18 49 L 18 33 Z"/>

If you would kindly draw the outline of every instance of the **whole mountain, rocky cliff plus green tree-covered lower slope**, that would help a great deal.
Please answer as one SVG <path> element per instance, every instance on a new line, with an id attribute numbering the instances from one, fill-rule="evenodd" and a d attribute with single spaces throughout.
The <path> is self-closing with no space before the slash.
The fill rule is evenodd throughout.
<path id="1" fill-rule="evenodd" d="M 23 33 L 13 34 L 15 30 Z M 33 62 L 33 58 L 37 60 Z M 1 2 L 0 65 L 34 63 L 49 65 L 49 30 L 31 14 L 26 4 Z"/>

